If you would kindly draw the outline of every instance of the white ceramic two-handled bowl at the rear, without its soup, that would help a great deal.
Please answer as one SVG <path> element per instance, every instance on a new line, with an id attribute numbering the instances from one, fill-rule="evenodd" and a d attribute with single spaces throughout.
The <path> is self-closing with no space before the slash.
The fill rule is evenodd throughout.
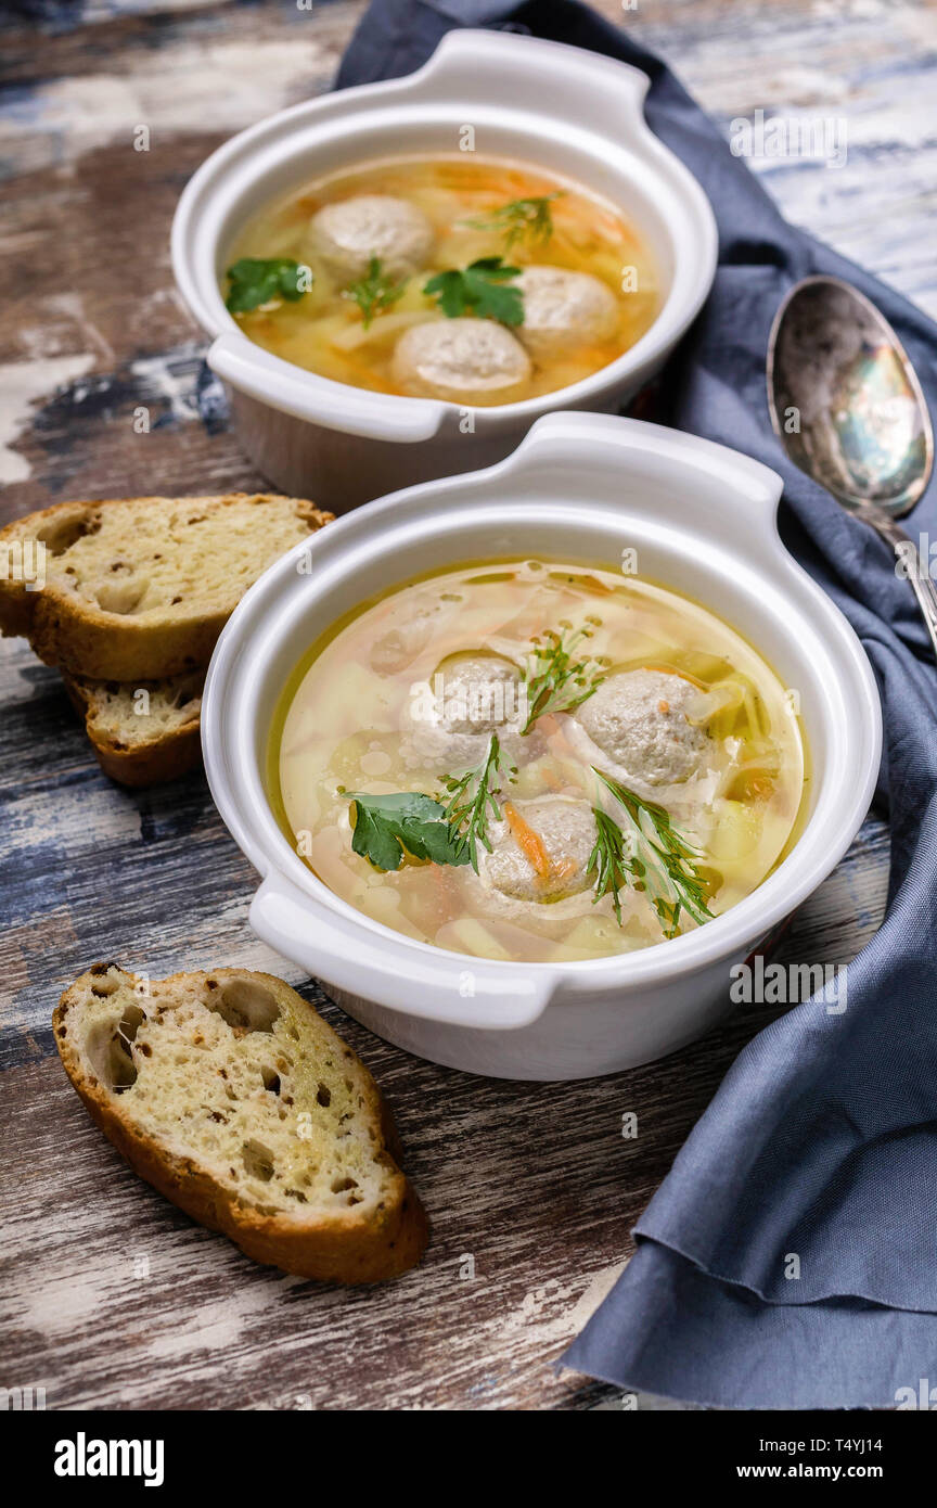
<path id="1" fill-rule="evenodd" d="M 490 466 L 553 409 L 613 410 L 663 365 L 716 271 L 710 204 L 643 118 L 645 74 L 575 47 L 493 32 L 450 32 L 419 72 L 330 93 L 241 131 L 187 185 L 172 232 L 173 270 L 208 362 L 227 383 L 244 448 L 265 477 L 345 513 L 432 477 Z M 584 382 L 541 398 L 470 410 L 368 392 L 303 371 L 249 341 L 218 277 L 233 237 L 265 201 L 309 178 L 380 157 L 458 151 L 514 157 L 572 178 L 625 210 L 651 244 L 660 314 L 637 344 Z"/>

